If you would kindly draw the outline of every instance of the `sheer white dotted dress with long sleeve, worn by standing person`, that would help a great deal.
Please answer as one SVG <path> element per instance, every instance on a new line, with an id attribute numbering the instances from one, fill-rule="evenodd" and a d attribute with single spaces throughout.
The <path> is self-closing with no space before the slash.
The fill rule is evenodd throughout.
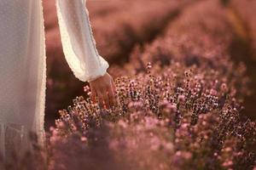
<path id="1" fill-rule="evenodd" d="M 108 62 L 97 53 L 85 0 L 56 0 L 61 42 L 74 76 L 92 81 Z M 0 150 L 44 144 L 46 57 L 42 0 L 0 0 Z M 55 65 L 58 66 L 58 65 Z"/>

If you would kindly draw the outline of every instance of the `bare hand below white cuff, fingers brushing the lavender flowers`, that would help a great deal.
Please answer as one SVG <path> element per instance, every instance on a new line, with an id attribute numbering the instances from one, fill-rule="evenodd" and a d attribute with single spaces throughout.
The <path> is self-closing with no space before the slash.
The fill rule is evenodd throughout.
<path id="1" fill-rule="evenodd" d="M 110 106 L 116 105 L 115 99 L 115 85 L 113 78 L 108 74 L 108 72 L 102 76 L 98 77 L 96 80 L 89 82 L 91 96 L 90 98 L 94 103 L 96 103 L 96 97 L 99 100 L 101 107 L 106 105 L 109 109 Z"/>

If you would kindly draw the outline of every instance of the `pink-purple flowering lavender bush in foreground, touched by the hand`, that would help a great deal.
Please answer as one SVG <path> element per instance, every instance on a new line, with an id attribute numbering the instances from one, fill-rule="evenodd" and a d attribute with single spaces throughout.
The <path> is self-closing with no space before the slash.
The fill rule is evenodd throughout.
<path id="1" fill-rule="evenodd" d="M 52 169 L 253 168 L 256 124 L 241 116 L 230 84 L 214 77 L 180 63 L 148 64 L 142 77 L 116 80 L 118 107 L 74 99 L 51 132 Z"/>

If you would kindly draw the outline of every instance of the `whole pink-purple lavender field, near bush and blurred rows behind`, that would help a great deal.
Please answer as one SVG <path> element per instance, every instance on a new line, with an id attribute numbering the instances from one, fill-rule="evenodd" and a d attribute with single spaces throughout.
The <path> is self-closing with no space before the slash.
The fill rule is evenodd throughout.
<path id="1" fill-rule="evenodd" d="M 118 105 L 100 108 L 73 77 L 55 2 L 44 0 L 47 141 L 31 134 L 33 150 L 4 167 L 256 170 L 255 1 L 87 4 Z"/>

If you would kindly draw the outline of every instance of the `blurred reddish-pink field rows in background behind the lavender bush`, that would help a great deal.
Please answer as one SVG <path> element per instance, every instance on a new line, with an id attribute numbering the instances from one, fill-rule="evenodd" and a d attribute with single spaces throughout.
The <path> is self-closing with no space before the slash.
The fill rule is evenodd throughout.
<path id="1" fill-rule="evenodd" d="M 43 2 L 48 74 L 45 127 L 49 129 L 59 117 L 59 110 L 72 105 L 76 96 L 85 95 L 86 83 L 73 76 L 62 53 L 55 0 Z M 143 51 L 155 39 L 166 37 L 170 30 L 177 35 L 192 34 L 191 30 L 195 30 L 198 37 L 205 31 L 212 35 L 210 42 L 230 38 L 225 43 L 226 54 L 234 62 L 246 65 L 251 80 L 244 112 L 256 117 L 255 0 L 87 0 L 87 8 L 99 54 L 108 60 L 113 77 L 125 74 L 114 73 L 113 68 L 124 66 L 138 48 Z"/>

